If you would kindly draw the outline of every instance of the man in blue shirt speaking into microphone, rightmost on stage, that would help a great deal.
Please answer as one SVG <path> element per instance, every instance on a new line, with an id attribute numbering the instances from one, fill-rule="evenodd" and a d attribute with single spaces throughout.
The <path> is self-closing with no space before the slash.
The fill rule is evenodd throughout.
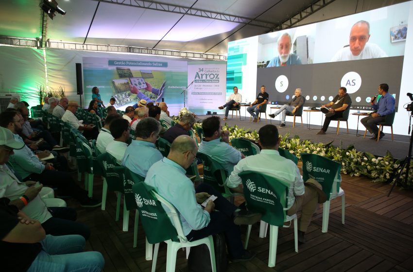
<path id="1" fill-rule="evenodd" d="M 374 101 L 372 98 L 372 108 L 377 110 L 377 112 L 361 119 L 361 123 L 366 127 L 366 129 L 373 134 L 370 139 L 377 140 L 379 135 L 379 128 L 377 123 L 384 122 L 386 115 L 395 112 L 395 98 L 389 94 L 389 85 L 383 83 L 379 85 L 379 94 L 381 95 L 379 102 Z M 380 133 L 380 139 L 384 136 L 384 133 Z"/>

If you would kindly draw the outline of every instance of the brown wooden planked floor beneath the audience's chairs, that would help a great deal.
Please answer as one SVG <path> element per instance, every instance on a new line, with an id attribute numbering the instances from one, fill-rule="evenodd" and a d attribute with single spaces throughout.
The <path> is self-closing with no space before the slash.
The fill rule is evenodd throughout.
<path id="1" fill-rule="evenodd" d="M 322 205 L 307 231 L 307 242 L 293 248 L 293 227 L 280 229 L 275 268 L 268 267 L 269 231 L 258 238 L 259 225 L 253 226 L 248 249 L 257 253 L 249 262 L 230 263 L 228 271 L 413 271 L 413 192 L 395 189 L 368 179 L 342 175 L 345 191 L 345 224 L 341 223 L 341 200 L 331 203 L 328 233 L 321 233 Z M 100 177 L 94 180 L 94 195 L 102 196 Z M 241 200 L 238 199 L 238 202 Z M 109 192 L 106 210 L 85 209 L 75 201 L 78 221 L 90 226 L 92 235 L 86 250 L 96 250 L 105 258 L 106 272 L 151 271 L 145 260 L 145 236 L 138 229 L 138 247 L 133 248 L 135 213 L 130 213 L 129 231 L 122 231 L 122 215 L 115 221 L 116 196 Z M 242 239 L 246 227 L 241 226 Z M 160 246 L 156 271 L 165 271 L 166 244 Z M 187 271 L 185 252 L 178 252 L 176 271 Z"/>

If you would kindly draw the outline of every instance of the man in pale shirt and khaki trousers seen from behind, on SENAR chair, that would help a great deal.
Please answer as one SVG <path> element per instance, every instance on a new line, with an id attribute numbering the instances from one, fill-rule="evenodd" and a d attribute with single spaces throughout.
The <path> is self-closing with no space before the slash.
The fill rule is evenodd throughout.
<path id="1" fill-rule="evenodd" d="M 227 186 L 242 193 L 239 174 L 243 171 L 259 172 L 289 183 L 287 214 L 293 215 L 301 210 L 301 217 L 298 221 L 298 240 L 304 243 L 304 235 L 310 225 L 311 217 L 317 209 L 317 204 L 326 201 L 326 195 L 320 189 L 321 185 L 315 180 L 309 179 L 304 183 L 300 170 L 294 162 L 280 156 L 278 153 L 280 138 L 274 125 L 261 127 L 258 136 L 258 144 L 262 148 L 261 153 L 242 159 L 228 177 Z M 314 184 L 319 187 L 316 188 Z"/>

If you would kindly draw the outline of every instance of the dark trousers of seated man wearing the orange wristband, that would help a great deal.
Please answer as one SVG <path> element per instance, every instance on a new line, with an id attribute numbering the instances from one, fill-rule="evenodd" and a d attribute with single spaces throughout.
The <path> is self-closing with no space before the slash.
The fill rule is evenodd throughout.
<path id="1" fill-rule="evenodd" d="M 86 240 L 90 237 L 89 227 L 81 222 L 76 222 L 76 210 L 67 207 L 49 208 L 52 218 L 43 222 L 42 227 L 46 234 L 53 236 L 63 236 L 77 234 L 83 236 Z"/>

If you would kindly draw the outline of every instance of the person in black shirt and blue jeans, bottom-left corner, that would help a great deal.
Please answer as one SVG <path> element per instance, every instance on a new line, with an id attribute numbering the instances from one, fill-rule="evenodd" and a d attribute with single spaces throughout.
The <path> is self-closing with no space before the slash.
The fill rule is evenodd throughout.
<path id="1" fill-rule="evenodd" d="M 94 271 L 104 258 L 99 252 L 82 252 L 86 240 L 79 235 L 52 236 L 38 220 L 0 199 L 0 262 L 4 271 Z"/>

